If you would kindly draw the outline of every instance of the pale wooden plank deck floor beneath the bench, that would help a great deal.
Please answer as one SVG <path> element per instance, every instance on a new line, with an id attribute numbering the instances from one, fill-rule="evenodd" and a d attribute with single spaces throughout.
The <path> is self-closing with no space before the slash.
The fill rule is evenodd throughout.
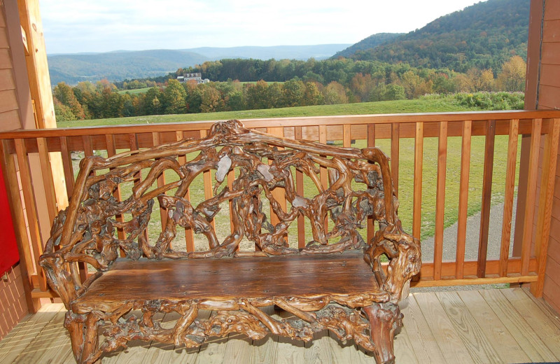
<path id="1" fill-rule="evenodd" d="M 560 360 L 560 318 L 521 288 L 414 293 L 395 338 L 397 363 L 543 363 Z M 62 304 L 28 315 L 0 342 L 0 363 L 75 363 Z M 167 317 L 164 317 L 164 321 Z M 163 349 L 167 350 L 163 350 Z M 312 344 L 230 335 L 199 349 L 139 343 L 109 363 L 374 363 L 323 332 Z"/>

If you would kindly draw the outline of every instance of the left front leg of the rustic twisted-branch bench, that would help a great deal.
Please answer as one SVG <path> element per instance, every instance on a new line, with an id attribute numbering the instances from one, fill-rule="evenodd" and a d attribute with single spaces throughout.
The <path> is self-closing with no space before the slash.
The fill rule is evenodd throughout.
<path id="1" fill-rule="evenodd" d="M 97 350 L 99 337 L 97 335 L 98 323 L 99 321 L 93 314 L 78 315 L 73 314 L 71 311 L 66 312 L 64 326 L 70 333 L 70 341 L 76 363 L 101 364 L 101 360 L 96 360 L 95 358 L 87 360 Z"/>

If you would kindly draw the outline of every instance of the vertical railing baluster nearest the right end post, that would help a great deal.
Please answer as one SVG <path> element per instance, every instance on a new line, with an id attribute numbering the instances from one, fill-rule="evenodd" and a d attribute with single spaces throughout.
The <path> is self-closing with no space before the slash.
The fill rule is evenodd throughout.
<path id="1" fill-rule="evenodd" d="M 533 217 L 535 216 L 535 201 L 537 193 L 538 157 L 540 152 L 540 129 L 542 119 L 534 119 L 531 127 L 531 150 L 529 153 L 529 165 L 527 174 L 527 193 L 523 220 L 523 239 L 521 240 L 521 275 L 526 276 L 529 272 L 529 260 L 531 259 L 531 239 L 533 237 Z"/>

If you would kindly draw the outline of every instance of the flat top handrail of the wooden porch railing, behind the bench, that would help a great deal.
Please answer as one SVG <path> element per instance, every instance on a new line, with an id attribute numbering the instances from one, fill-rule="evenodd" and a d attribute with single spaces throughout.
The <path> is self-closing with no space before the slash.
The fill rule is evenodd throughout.
<path id="1" fill-rule="evenodd" d="M 466 116 L 466 117 L 465 117 Z M 310 127 L 316 125 L 400 124 L 418 122 L 461 122 L 463 120 L 508 120 L 533 118 L 560 118 L 560 110 L 513 111 L 456 111 L 440 113 L 391 113 L 351 116 L 301 116 L 283 118 L 239 119 L 248 128 L 259 127 Z M 221 120 L 187 121 L 178 123 L 125 124 L 88 127 L 60 127 L 56 129 L 13 130 L 0 132 L 0 139 L 79 137 L 83 135 L 128 134 L 209 130 Z"/>

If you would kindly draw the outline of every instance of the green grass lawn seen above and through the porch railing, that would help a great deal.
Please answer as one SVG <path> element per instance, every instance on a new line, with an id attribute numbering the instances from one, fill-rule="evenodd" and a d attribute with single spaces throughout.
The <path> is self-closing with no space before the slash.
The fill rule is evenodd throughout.
<path id="1" fill-rule="evenodd" d="M 236 111 L 223 113 L 201 113 L 169 116 L 141 116 L 134 118 L 117 118 L 101 120 L 73 121 L 71 123 L 59 123 L 59 127 L 92 126 L 92 125 L 119 125 L 138 123 L 172 123 L 180 121 L 195 120 L 227 120 L 230 118 L 267 118 L 281 116 L 324 116 L 324 115 L 352 115 L 367 113 L 407 113 L 407 112 L 430 112 L 430 111 L 473 111 L 454 104 L 452 97 L 423 98 L 416 100 L 402 100 L 394 102 L 371 102 L 363 104 L 342 104 L 328 106 L 306 106 L 300 108 L 269 109 L 255 111 Z M 342 141 L 335 141 L 342 145 Z M 376 141 L 377 146 L 387 155 L 391 154 L 391 142 L 388 139 Z M 354 145 L 357 148 L 365 147 L 365 140 L 358 140 Z M 518 148 L 518 153 L 519 153 Z M 104 154 L 104 153 L 103 153 Z M 188 156 L 189 159 L 194 158 Z M 492 204 L 503 202 L 505 189 L 505 165 L 507 160 L 507 136 L 497 136 L 494 153 Z M 518 156 L 519 160 L 519 156 Z M 412 198 L 414 181 L 414 139 L 401 139 L 400 141 L 400 168 L 399 168 L 399 216 L 403 228 L 412 232 Z M 447 150 L 447 181 L 445 193 L 444 225 L 447 227 L 456 222 L 458 216 L 458 194 L 459 177 L 461 172 L 461 138 L 449 137 Z M 470 183 L 468 214 L 469 216 L 480 210 L 482 201 L 482 174 L 484 169 L 484 137 L 472 137 Z M 78 170 L 77 165 L 75 171 Z M 519 170 L 519 166 L 518 169 Z M 435 229 L 435 193 L 437 174 L 437 138 L 424 139 L 423 148 L 423 187 L 422 187 L 422 238 L 433 236 Z M 166 180 L 169 183 L 176 179 L 172 172 L 166 172 Z M 204 200 L 204 186 L 202 175 L 198 176 L 191 185 L 190 198 L 194 204 Z M 214 181 L 214 179 L 213 179 Z M 215 181 L 214 181 L 215 182 Z M 126 198 L 132 192 L 130 186 L 123 186 L 123 197 Z M 517 186 L 517 181 L 516 181 Z M 154 186 L 155 187 L 155 186 Z M 307 196 L 315 195 L 316 191 L 311 181 L 306 181 L 305 193 Z M 157 239 L 160 231 L 160 214 L 156 202 L 151 219 L 151 241 Z M 266 204 L 265 204 L 266 205 Z M 289 206 L 288 206 L 289 209 Z M 218 238 L 223 239 L 230 230 L 229 209 L 227 204 L 223 207 L 216 218 L 216 230 Z M 306 228 L 307 241 L 311 239 L 310 229 Z M 365 231 L 363 232 L 365 235 Z M 290 227 L 290 245 L 297 245 L 297 223 Z M 181 232 L 176 238 L 184 241 L 184 233 Z M 205 240 L 204 236 L 197 237 L 199 243 Z M 198 245 L 198 244 L 197 244 Z M 202 248 L 202 246 L 201 246 Z"/>

